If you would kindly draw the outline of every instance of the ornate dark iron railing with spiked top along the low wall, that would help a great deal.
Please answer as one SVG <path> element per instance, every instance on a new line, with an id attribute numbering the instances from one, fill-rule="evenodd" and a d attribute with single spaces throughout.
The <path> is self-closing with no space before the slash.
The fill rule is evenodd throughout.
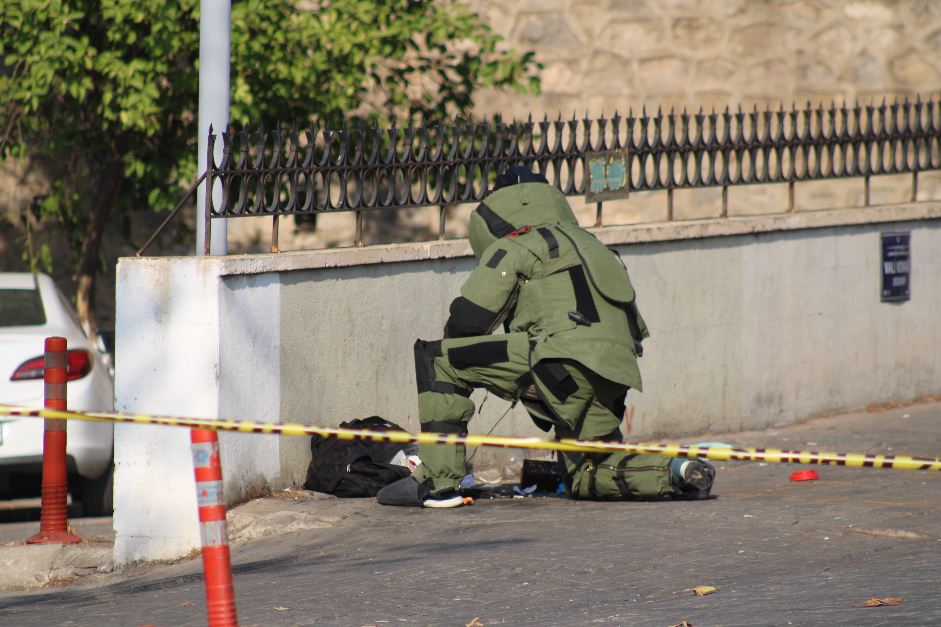
<path id="1" fill-rule="evenodd" d="M 673 219 L 673 190 L 731 185 L 914 173 L 941 167 L 941 102 L 895 102 L 786 111 L 662 114 L 640 117 L 534 122 L 456 121 L 419 128 L 355 129 L 328 124 L 292 129 L 219 133 L 223 156 L 212 157 L 210 130 L 205 186 L 206 233 L 210 220 L 319 212 L 361 212 L 479 202 L 508 165 L 528 165 L 569 196 L 586 192 L 586 157 L 626 151 L 627 190 L 667 190 L 666 219 Z M 199 182 L 199 181 L 198 181 Z M 221 187 L 221 202 L 209 190 Z M 191 190 L 191 193 L 195 191 Z M 601 226 L 601 203 L 597 225 Z M 206 251 L 209 238 L 206 238 Z"/>

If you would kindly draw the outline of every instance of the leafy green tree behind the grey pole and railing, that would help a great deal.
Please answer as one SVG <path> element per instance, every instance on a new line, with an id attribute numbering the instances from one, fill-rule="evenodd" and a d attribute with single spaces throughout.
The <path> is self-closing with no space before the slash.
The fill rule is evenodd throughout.
<path id="1" fill-rule="evenodd" d="M 231 40 L 241 124 L 438 118 L 481 87 L 538 89 L 532 54 L 446 0 L 235 0 Z M 64 173 L 31 211 L 69 232 L 88 320 L 112 208 L 166 209 L 195 178 L 199 0 L 3 0 L 0 55 L 0 159 Z"/>

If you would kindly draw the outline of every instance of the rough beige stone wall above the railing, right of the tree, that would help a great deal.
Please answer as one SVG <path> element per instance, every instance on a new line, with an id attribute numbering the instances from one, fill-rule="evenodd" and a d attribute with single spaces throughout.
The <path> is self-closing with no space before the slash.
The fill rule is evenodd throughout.
<path id="1" fill-rule="evenodd" d="M 726 105 L 923 98 L 941 90 L 937 0 L 474 0 L 543 63 L 542 95 L 481 114 L 597 116 Z"/>

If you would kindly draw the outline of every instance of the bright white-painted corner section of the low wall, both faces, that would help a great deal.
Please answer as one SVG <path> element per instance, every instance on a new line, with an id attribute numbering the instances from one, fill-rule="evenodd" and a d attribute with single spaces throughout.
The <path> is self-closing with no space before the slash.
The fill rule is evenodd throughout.
<path id="1" fill-rule="evenodd" d="M 279 274 L 225 276 L 217 258 L 128 261 L 118 267 L 117 411 L 278 421 Z M 199 546 L 189 445 L 185 429 L 116 426 L 118 563 Z M 282 478 L 278 435 L 225 432 L 219 448 L 229 504 L 295 482 Z"/>

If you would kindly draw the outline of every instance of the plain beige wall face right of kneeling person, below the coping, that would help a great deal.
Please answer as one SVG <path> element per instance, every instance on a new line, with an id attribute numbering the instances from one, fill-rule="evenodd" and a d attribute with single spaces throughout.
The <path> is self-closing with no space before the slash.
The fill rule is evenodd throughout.
<path id="1" fill-rule="evenodd" d="M 912 300 L 881 303 L 881 232 Z M 632 434 L 782 425 L 941 391 L 936 220 L 619 247 L 650 327 Z"/>

